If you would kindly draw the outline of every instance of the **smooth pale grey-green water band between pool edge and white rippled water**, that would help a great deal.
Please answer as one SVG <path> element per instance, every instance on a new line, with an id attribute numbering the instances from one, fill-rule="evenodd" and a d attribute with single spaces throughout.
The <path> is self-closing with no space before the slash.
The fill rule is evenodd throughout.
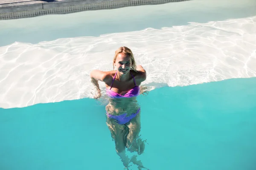
<path id="1" fill-rule="evenodd" d="M 256 15 L 256 1 L 190 0 L 155 6 L 82 11 L 66 15 L 0 21 L 0 46 L 15 41 L 38 43 L 58 38 L 99 36 L 145 28 L 186 26 Z"/>

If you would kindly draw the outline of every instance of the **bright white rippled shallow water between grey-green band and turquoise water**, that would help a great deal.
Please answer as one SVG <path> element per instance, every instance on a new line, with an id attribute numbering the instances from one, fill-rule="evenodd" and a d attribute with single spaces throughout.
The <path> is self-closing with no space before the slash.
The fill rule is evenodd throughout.
<path id="1" fill-rule="evenodd" d="M 154 89 L 256 77 L 256 16 L 0 47 L 0 107 L 93 97 L 90 71 L 131 48 Z M 103 93 L 104 83 L 100 83 Z"/>

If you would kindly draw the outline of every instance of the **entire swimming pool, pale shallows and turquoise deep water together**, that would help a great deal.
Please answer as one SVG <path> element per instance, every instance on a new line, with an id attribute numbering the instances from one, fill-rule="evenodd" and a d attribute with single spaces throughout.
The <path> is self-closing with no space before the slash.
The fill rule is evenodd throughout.
<path id="1" fill-rule="evenodd" d="M 0 169 L 123 169 L 88 79 L 122 45 L 148 72 L 145 167 L 255 169 L 254 0 L 3 20 L 0 39 Z"/>

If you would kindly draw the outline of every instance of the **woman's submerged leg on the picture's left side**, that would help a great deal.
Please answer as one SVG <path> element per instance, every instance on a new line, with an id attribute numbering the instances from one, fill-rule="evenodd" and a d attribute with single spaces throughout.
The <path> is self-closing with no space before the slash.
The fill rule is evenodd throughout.
<path id="1" fill-rule="evenodd" d="M 107 118 L 107 125 L 111 136 L 115 141 L 116 153 L 120 156 L 123 165 L 128 167 L 130 159 L 125 154 L 125 144 L 127 139 L 128 128 L 125 125 L 116 123 L 113 119 Z"/>

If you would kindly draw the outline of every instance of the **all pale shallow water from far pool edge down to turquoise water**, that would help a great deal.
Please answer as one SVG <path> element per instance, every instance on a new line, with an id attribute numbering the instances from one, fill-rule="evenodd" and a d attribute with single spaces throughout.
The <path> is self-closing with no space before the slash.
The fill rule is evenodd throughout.
<path id="1" fill-rule="evenodd" d="M 256 77 L 256 1 L 191 0 L 3 20 L 0 40 L 2 108 L 92 98 L 90 71 L 111 70 L 120 46 L 131 48 L 147 70 L 149 89 Z"/>

